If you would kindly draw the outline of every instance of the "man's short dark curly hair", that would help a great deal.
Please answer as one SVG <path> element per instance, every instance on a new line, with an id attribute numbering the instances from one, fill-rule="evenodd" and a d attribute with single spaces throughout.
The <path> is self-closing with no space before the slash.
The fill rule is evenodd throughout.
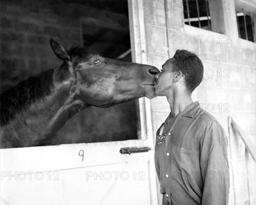
<path id="1" fill-rule="evenodd" d="M 186 88 L 192 93 L 203 80 L 204 66 L 202 61 L 197 55 L 187 50 L 177 50 L 173 58 L 175 63 L 172 71 L 183 73 Z"/>

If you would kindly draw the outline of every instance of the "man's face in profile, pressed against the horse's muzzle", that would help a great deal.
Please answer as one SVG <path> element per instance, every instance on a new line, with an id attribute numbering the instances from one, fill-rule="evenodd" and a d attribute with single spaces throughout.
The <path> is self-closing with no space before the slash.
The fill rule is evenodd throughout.
<path id="1" fill-rule="evenodd" d="M 173 88 L 172 78 L 174 76 L 173 66 L 174 58 L 167 60 L 161 69 L 160 73 L 155 75 L 154 90 L 157 96 L 166 96 Z"/>

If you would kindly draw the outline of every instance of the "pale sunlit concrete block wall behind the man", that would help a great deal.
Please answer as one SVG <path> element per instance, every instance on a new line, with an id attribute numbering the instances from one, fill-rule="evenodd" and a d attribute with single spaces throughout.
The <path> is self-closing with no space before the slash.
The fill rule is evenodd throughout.
<path id="1" fill-rule="evenodd" d="M 228 116 L 232 116 L 255 144 L 256 44 L 236 38 L 238 35 L 234 35 L 234 32 L 237 32 L 237 25 L 221 25 L 223 22 L 218 22 L 221 27 L 226 28 L 225 34 L 184 25 L 182 1 L 167 1 L 168 22 L 166 22 L 164 0 L 144 2 L 148 64 L 160 69 L 167 59 L 172 58 L 177 49 L 186 49 L 197 54 L 204 64 L 204 79 L 193 92 L 193 101 L 199 101 L 204 110 L 217 118 L 227 137 L 229 136 Z M 230 18 L 225 19 L 224 22 L 236 23 L 234 20 L 236 16 L 233 15 L 235 14 L 234 2 L 229 1 L 229 3 L 230 9 L 220 12 L 224 13 L 225 18 Z M 167 23 L 169 23 L 168 26 Z M 230 31 L 230 28 L 233 30 Z M 153 132 L 156 133 L 170 112 L 166 98 L 152 99 L 151 112 Z M 241 150 L 245 149 L 243 143 L 240 143 L 239 147 Z M 232 153 L 236 147 L 229 147 L 229 151 L 230 149 Z M 253 195 L 244 195 L 240 199 L 236 197 L 235 200 L 234 193 L 240 196 L 243 191 L 255 193 L 253 188 L 255 187 L 255 162 L 249 159 L 250 157 L 245 157 L 244 154 L 242 156 L 243 160 L 247 160 L 244 163 L 247 163 L 249 167 L 254 167 L 254 170 L 248 168 L 248 173 L 246 170 L 240 171 L 239 176 L 244 180 L 244 184 L 235 186 L 232 172 L 239 170 L 233 170 L 233 167 L 236 165 L 244 167 L 244 165 L 237 164 L 239 160 L 229 156 L 230 204 L 255 203 Z M 159 194 L 159 204 L 161 197 Z"/>

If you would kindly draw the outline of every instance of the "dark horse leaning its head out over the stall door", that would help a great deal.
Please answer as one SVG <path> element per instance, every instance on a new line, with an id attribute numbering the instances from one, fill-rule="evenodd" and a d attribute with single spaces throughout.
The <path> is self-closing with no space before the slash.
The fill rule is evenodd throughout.
<path id="1" fill-rule="evenodd" d="M 87 107 L 156 97 L 154 66 L 104 58 L 83 46 L 67 50 L 53 38 L 50 45 L 61 66 L 0 95 L 0 148 L 54 145 L 61 127 Z"/>

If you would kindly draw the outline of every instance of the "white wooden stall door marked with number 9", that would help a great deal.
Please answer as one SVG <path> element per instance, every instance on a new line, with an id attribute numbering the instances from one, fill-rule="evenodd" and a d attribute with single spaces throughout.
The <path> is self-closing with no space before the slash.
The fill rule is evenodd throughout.
<path id="1" fill-rule="evenodd" d="M 0 150 L 3 204 L 151 204 L 149 153 L 121 155 L 147 141 Z"/>

